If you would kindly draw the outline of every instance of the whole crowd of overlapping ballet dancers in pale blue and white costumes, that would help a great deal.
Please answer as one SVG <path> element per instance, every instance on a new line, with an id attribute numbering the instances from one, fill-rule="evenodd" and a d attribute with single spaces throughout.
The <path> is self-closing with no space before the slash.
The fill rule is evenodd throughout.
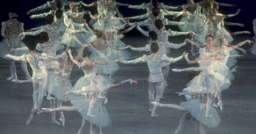
<path id="1" fill-rule="evenodd" d="M 51 123 L 65 126 L 63 111 L 78 111 L 82 116 L 82 127 L 78 133 L 85 133 L 86 121 L 90 122 L 90 133 L 102 133 L 101 127 L 111 124 L 108 112 L 104 105 L 108 90 L 126 82 L 137 84 L 136 80 L 123 80 L 115 83 L 113 76 L 119 70 L 119 64 L 139 64 L 146 62 L 149 68 L 149 104 L 151 117 L 156 115 L 157 107 L 168 107 L 185 111 L 178 129 L 181 133 L 186 123 L 194 119 L 197 133 L 206 133 L 205 127 L 217 127 L 220 117 L 214 107 L 224 109 L 221 92 L 231 85 L 234 80 L 232 72 L 236 72 L 236 58 L 243 57 L 238 51 L 247 54 L 241 46 L 253 43 L 245 40 L 231 45 L 233 38 L 239 34 L 251 34 L 250 31 L 230 32 L 224 25 L 238 25 L 224 21 L 227 17 L 238 15 L 241 9 L 230 15 L 218 13 L 219 6 L 236 7 L 218 3 L 212 0 L 187 0 L 187 4 L 172 7 L 151 0 L 141 5 L 117 3 L 115 0 L 98 0 L 86 4 L 85 1 L 53 0 L 27 12 L 31 19 L 44 17 L 46 25 L 34 27 L 24 31 L 24 24 L 18 21 L 15 11 L 9 11 L 9 20 L 1 23 L 1 36 L 5 38 L 0 42 L 2 58 L 10 61 L 10 76 L 7 80 L 24 83 L 32 82 L 34 88 L 32 98 L 34 106 L 26 121 L 29 125 L 34 113 L 50 112 Z M 65 9 L 69 5 L 69 9 Z M 96 6 L 98 13 L 92 15 L 84 7 Z M 146 9 L 147 13 L 135 17 L 123 17 L 119 6 L 131 9 Z M 52 9 L 47 13 L 34 14 L 43 9 Z M 176 11 L 169 11 L 176 10 Z M 92 18 L 89 24 L 84 15 Z M 182 16 L 181 21 L 170 21 L 164 18 L 173 15 L 173 19 Z M 131 23 L 131 19 L 144 19 Z M 166 29 L 165 25 L 177 25 L 181 31 Z M 256 34 L 256 19 L 253 21 L 253 30 Z M 148 31 L 141 27 L 147 26 Z M 146 46 L 135 48 L 121 41 L 123 34 L 134 27 L 144 36 L 148 37 Z M 38 36 L 43 43 L 30 40 L 24 44 L 26 36 Z M 169 36 L 187 36 L 181 44 L 173 44 Z M 189 60 L 187 52 L 177 58 L 170 58 L 170 48 L 179 49 L 191 44 L 191 54 L 197 56 L 196 60 Z M 256 55 L 256 45 L 250 49 Z M 129 60 L 131 53 L 126 49 L 150 54 Z M 167 86 L 170 63 L 179 62 L 185 58 L 188 64 L 199 64 L 197 68 L 172 69 L 172 72 L 191 72 L 190 82 L 179 96 L 185 95 L 187 102 L 179 105 L 162 104 L 164 90 Z M 26 80 L 19 80 L 16 74 L 15 62 L 20 61 Z M 28 73 L 27 62 L 32 68 L 32 77 Z M 119 64 L 118 64 L 119 62 Z M 76 67 L 76 66 L 77 67 Z M 80 68 L 84 76 L 79 78 L 72 86 L 69 78 L 73 68 Z M 231 69 L 232 68 L 232 69 Z M 115 83 L 115 84 L 114 84 Z M 48 94 L 46 93 L 48 92 Z M 156 98 L 154 98 L 156 92 Z M 43 96 L 50 100 L 50 108 L 42 108 Z M 57 108 L 56 102 L 57 99 Z M 218 103 L 216 101 L 218 100 Z M 62 106 L 62 102 L 70 101 L 72 107 Z M 58 111 L 59 123 L 55 119 Z"/>

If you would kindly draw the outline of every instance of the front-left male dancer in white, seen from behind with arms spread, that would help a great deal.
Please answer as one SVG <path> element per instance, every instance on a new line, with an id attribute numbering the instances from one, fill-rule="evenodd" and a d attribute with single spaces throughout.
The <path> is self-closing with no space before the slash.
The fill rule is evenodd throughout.
<path id="1" fill-rule="evenodd" d="M 29 41 L 27 44 L 28 49 L 30 50 L 30 54 L 23 54 L 22 56 L 12 56 L 10 54 L 5 55 L 5 58 L 11 58 L 13 60 L 17 61 L 24 61 L 28 62 L 33 70 L 32 75 L 32 84 L 33 84 L 33 101 L 34 106 L 30 113 L 30 117 L 28 117 L 28 120 L 26 121 L 26 125 L 30 124 L 30 121 L 33 119 L 33 115 L 36 112 L 36 114 L 42 113 L 40 111 L 40 107 L 42 105 L 42 97 L 43 97 L 43 91 L 46 86 L 47 82 L 47 73 L 46 73 L 46 66 L 44 61 L 45 60 L 57 60 L 61 58 L 63 55 L 66 54 L 66 52 L 63 52 L 63 54 L 59 56 L 48 56 L 45 53 L 38 53 L 36 52 L 36 43 L 34 41 Z M 53 124 L 56 122 L 53 121 Z"/>

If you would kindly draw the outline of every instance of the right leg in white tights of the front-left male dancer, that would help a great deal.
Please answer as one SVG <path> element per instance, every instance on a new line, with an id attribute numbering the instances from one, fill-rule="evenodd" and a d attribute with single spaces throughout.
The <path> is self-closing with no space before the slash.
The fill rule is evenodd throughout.
<path id="1" fill-rule="evenodd" d="M 44 88 L 46 86 L 47 78 L 41 78 L 38 81 L 39 81 L 39 90 L 38 90 L 38 100 L 37 100 L 38 106 L 37 106 L 36 114 L 42 113 L 42 111 L 40 111 L 40 109 L 41 109 L 41 105 L 42 105 L 43 92 L 44 92 Z"/>

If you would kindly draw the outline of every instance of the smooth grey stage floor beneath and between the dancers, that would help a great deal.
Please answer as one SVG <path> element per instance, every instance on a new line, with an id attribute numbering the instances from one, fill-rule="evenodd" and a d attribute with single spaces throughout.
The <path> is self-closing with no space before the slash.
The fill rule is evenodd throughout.
<path id="1" fill-rule="evenodd" d="M 26 43 L 31 37 L 26 38 Z M 252 40 L 252 36 L 236 36 L 235 43 L 245 39 Z M 38 40 L 38 38 L 36 39 Z M 122 39 L 127 45 L 142 47 L 146 45 L 147 38 L 145 37 L 125 37 Z M 170 42 L 181 43 L 185 40 L 185 36 L 172 37 Z M 179 50 L 171 50 L 170 56 L 176 58 L 185 50 L 189 51 L 191 44 L 187 44 Z M 246 44 L 242 48 L 249 51 L 250 45 Z M 148 52 L 133 52 L 131 60 L 139 58 Z M 189 59 L 193 60 L 191 54 Z M 220 125 L 214 129 L 207 129 L 207 133 L 221 134 L 243 134 L 255 133 L 256 117 L 255 117 L 255 87 L 256 87 L 256 57 L 252 54 L 247 54 L 245 58 L 238 59 L 238 72 L 234 72 L 235 80 L 232 86 L 222 92 L 222 100 L 224 110 L 217 109 L 222 121 Z M 24 79 L 25 75 L 17 62 L 18 78 Z M 197 66 L 197 65 L 193 65 Z M 5 80 L 9 76 L 9 62 L 0 60 L 0 133 L 26 133 L 26 134 L 75 134 L 82 125 L 82 117 L 77 113 L 64 112 L 65 127 L 51 124 L 51 113 L 41 113 L 34 115 L 34 119 L 30 125 L 25 125 L 26 119 L 30 114 L 33 106 L 32 101 L 32 84 L 15 84 L 10 80 Z M 172 68 L 188 68 L 185 59 L 170 64 Z M 28 65 L 30 74 L 32 70 Z M 174 92 L 181 92 L 189 81 L 188 72 L 173 73 L 170 71 L 168 78 L 168 86 L 164 92 L 165 100 L 160 100 L 160 103 L 172 103 L 179 105 L 186 101 L 184 96 L 177 96 Z M 71 74 L 71 83 L 75 82 L 84 76 L 82 70 L 77 67 Z M 174 133 L 179 125 L 179 121 L 183 112 L 174 109 L 158 107 L 156 114 L 158 117 L 150 117 L 148 103 L 148 66 L 147 64 L 135 65 L 120 65 L 120 70 L 116 72 L 114 79 L 116 82 L 132 78 L 138 80 L 139 84 L 125 84 L 117 88 L 110 89 L 108 93 L 108 104 L 105 106 L 112 120 L 112 125 L 102 128 L 104 134 L 166 134 Z M 42 102 L 42 107 L 49 107 L 49 100 Z M 63 103 L 63 106 L 71 106 L 70 103 Z M 59 113 L 56 113 L 56 119 L 59 119 Z M 86 134 L 89 133 L 90 123 L 87 123 Z M 194 133 L 193 121 L 187 125 L 183 133 Z"/>

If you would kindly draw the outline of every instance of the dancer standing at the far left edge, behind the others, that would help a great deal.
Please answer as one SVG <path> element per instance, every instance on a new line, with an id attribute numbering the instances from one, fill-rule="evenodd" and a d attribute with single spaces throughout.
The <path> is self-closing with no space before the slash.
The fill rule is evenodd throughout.
<path id="1" fill-rule="evenodd" d="M 5 32 L 1 32 L 2 36 L 5 36 L 5 40 L 2 40 L 0 42 L 0 56 L 1 58 L 4 57 L 5 54 L 11 54 L 13 56 L 22 56 L 23 54 L 29 54 L 29 50 L 22 50 L 20 52 L 10 52 L 11 48 L 22 48 L 25 47 L 26 45 L 22 42 L 22 40 L 24 39 L 25 36 L 22 36 L 21 39 L 17 38 L 17 35 L 24 32 L 23 29 L 23 23 L 20 23 L 18 21 L 18 17 L 12 17 L 13 14 L 10 14 L 10 21 L 5 21 L 2 23 L 2 31 L 3 29 L 6 31 L 6 34 L 4 34 Z M 15 14 L 14 14 L 15 15 Z M 10 60 L 10 72 L 11 75 L 7 78 L 7 80 L 17 80 L 17 74 L 16 74 L 16 66 L 15 66 L 15 62 L 14 60 L 11 60 L 9 58 L 7 58 L 8 60 Z M 22 70 L 24 71 L 24 73 L 26 74 L 26 79 L 29 80 L 31 79 L 30 74 L 28 73 L 28 68 L 27 68 L 27 64 L 24 61 L 20 61 L 20 65 L 22 67 Z"/>

